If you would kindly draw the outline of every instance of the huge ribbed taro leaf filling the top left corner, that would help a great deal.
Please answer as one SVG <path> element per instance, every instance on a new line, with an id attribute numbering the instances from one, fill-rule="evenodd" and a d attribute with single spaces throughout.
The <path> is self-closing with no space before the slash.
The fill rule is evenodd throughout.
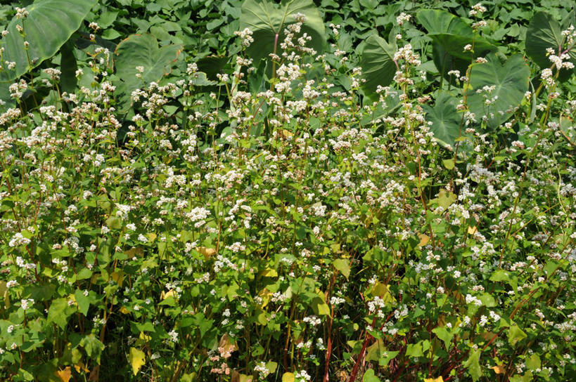
<path id="1" fill-rule="evenodd" d="M 27 7 L 25 20 L 13 18 L 6 28 L 8 36 L 2 40 L 2 60 L 15 62 L 15 67 L 0 71 L 0 81 L 12 81 L 51 58 L 72 33 L 79 28 L 95 0 L 41 0 Z M 23 48 L 25 39 L 16 29 L 23 25 L 30 47 Z M 28 58 L 30 57 L 30 65 Z"/>

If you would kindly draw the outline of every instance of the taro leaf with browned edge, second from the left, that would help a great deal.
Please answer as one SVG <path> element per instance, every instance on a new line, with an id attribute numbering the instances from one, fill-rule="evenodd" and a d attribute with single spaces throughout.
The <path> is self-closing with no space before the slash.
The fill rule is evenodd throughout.
<path id="1" fill-rule="evenodd" d="M 116 74 L 122 79 L 118 84 L 120 110 L 126 111 L 130 105 L 130 94 L 141 86 L 158 82 L 172 71 L 172 65 L 178 59 L 182 47 L 167 45 L 158 48 L 158 41 L 151 34 L 132 34 L 122 40 L 114 52 Z M 136 67 L 143 67 L 142 78 Z"/>

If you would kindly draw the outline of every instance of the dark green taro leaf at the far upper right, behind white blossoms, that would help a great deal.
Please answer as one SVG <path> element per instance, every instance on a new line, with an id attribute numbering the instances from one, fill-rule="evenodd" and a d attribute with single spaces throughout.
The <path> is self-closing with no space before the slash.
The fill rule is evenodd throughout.
<path id="1" fill-rule="evenodd" d="M 560 23 L 546 12 L 536 13 L 527 27 L 526 54 L 542 69 L 552 65 L 546 49 L 552 48 L 554 53 L 558 55 L 558 50 L 562 48 L 564 38 L 561 29 Z M 572 49 L 569 54 L 570 62 L 576 64 L 576 52 Z M 568 79 L 572 73 L 573 70 L 563 69 L 559 79 Z"/>

